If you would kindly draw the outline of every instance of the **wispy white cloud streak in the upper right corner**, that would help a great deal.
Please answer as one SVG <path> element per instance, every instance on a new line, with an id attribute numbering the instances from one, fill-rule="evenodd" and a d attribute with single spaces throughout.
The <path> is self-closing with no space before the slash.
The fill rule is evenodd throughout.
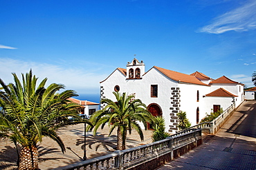
<path id="1" fill-rule="evenodd" d="M 205 25 L 199 32 L 222 34 L 228 31 L 244 32 L 256 29 L 256 1 L 248 1 L 244 6 L 226 12 L 213 19 L 212 23 Z"/>

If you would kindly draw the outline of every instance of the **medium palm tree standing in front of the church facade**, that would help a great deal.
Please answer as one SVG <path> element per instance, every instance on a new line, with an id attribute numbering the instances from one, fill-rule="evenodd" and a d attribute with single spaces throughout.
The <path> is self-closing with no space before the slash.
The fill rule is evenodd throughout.
<path id="1" fill-rule="evenodd" d="M 110 99 L 101 100 L 102 104 L 107 104 L 102 110 L 96 111 L 90 118 L 94 125 L 93 134 L 95 135 L 98 128 L 104 128 L 104 125 L 111 126 L 109 135 L 117 128 L 117 149 L 124 150 L 127 138 L 127 131 L 131 134 L 131 129 L 135 129 L 141 140 L 144 140 L 143 131 L 139 122 L 143 123 L 147 129 L 147 122 L 151 122 L 152 114 L 147 111 L 147 106 L 140 99 L 131 101 L 134 96 L 127 96 L 126 93 L 120 95 L 119 92 L 113 92 L 117 102 Z"/>

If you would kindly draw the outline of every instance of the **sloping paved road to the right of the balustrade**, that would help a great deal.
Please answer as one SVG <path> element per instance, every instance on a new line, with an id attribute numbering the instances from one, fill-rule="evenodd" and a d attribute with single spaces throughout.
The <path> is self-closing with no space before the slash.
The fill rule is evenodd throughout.
<path id="1" fill-rule="evenodd" d="M 256 101 L 244 102 L 215 136 L 165 169 L 256 169 Z"/>

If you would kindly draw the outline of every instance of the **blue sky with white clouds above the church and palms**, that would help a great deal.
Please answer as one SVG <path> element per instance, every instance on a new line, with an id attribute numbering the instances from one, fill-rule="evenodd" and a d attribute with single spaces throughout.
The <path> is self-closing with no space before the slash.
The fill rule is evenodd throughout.
<path id="1" fill-rule="evenodd" d="M 134 59 L 176 72 L 228 76 L 252 87 L 256 1 L 0 0 L 0 78 L 32 68 L 48 83 L 99 94 Z"/>

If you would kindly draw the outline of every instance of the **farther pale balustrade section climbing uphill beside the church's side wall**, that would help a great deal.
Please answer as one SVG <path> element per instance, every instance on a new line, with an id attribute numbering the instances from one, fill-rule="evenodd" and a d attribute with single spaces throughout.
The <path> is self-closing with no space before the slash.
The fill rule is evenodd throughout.
<path id="1" fill-rule="evenodd" d="M 235 111 L 235 104 L 232 104 L 225 111 L 223 111 L 223 113 L 221 113 L 217 118 L 215 118 L 211 122 L 199 123 L 187 129 L 178 131 L 178 133 L 181 133 L 183 131 L 188 131 L 189 129 L 202 129 L 202 132 L 206 132 L 208 134 L 216 134 L 217 131 L 221 128 L 221 126 L 224 123 L 226 123 L 228 118 L 232 116 L 234 111 Z"/>

